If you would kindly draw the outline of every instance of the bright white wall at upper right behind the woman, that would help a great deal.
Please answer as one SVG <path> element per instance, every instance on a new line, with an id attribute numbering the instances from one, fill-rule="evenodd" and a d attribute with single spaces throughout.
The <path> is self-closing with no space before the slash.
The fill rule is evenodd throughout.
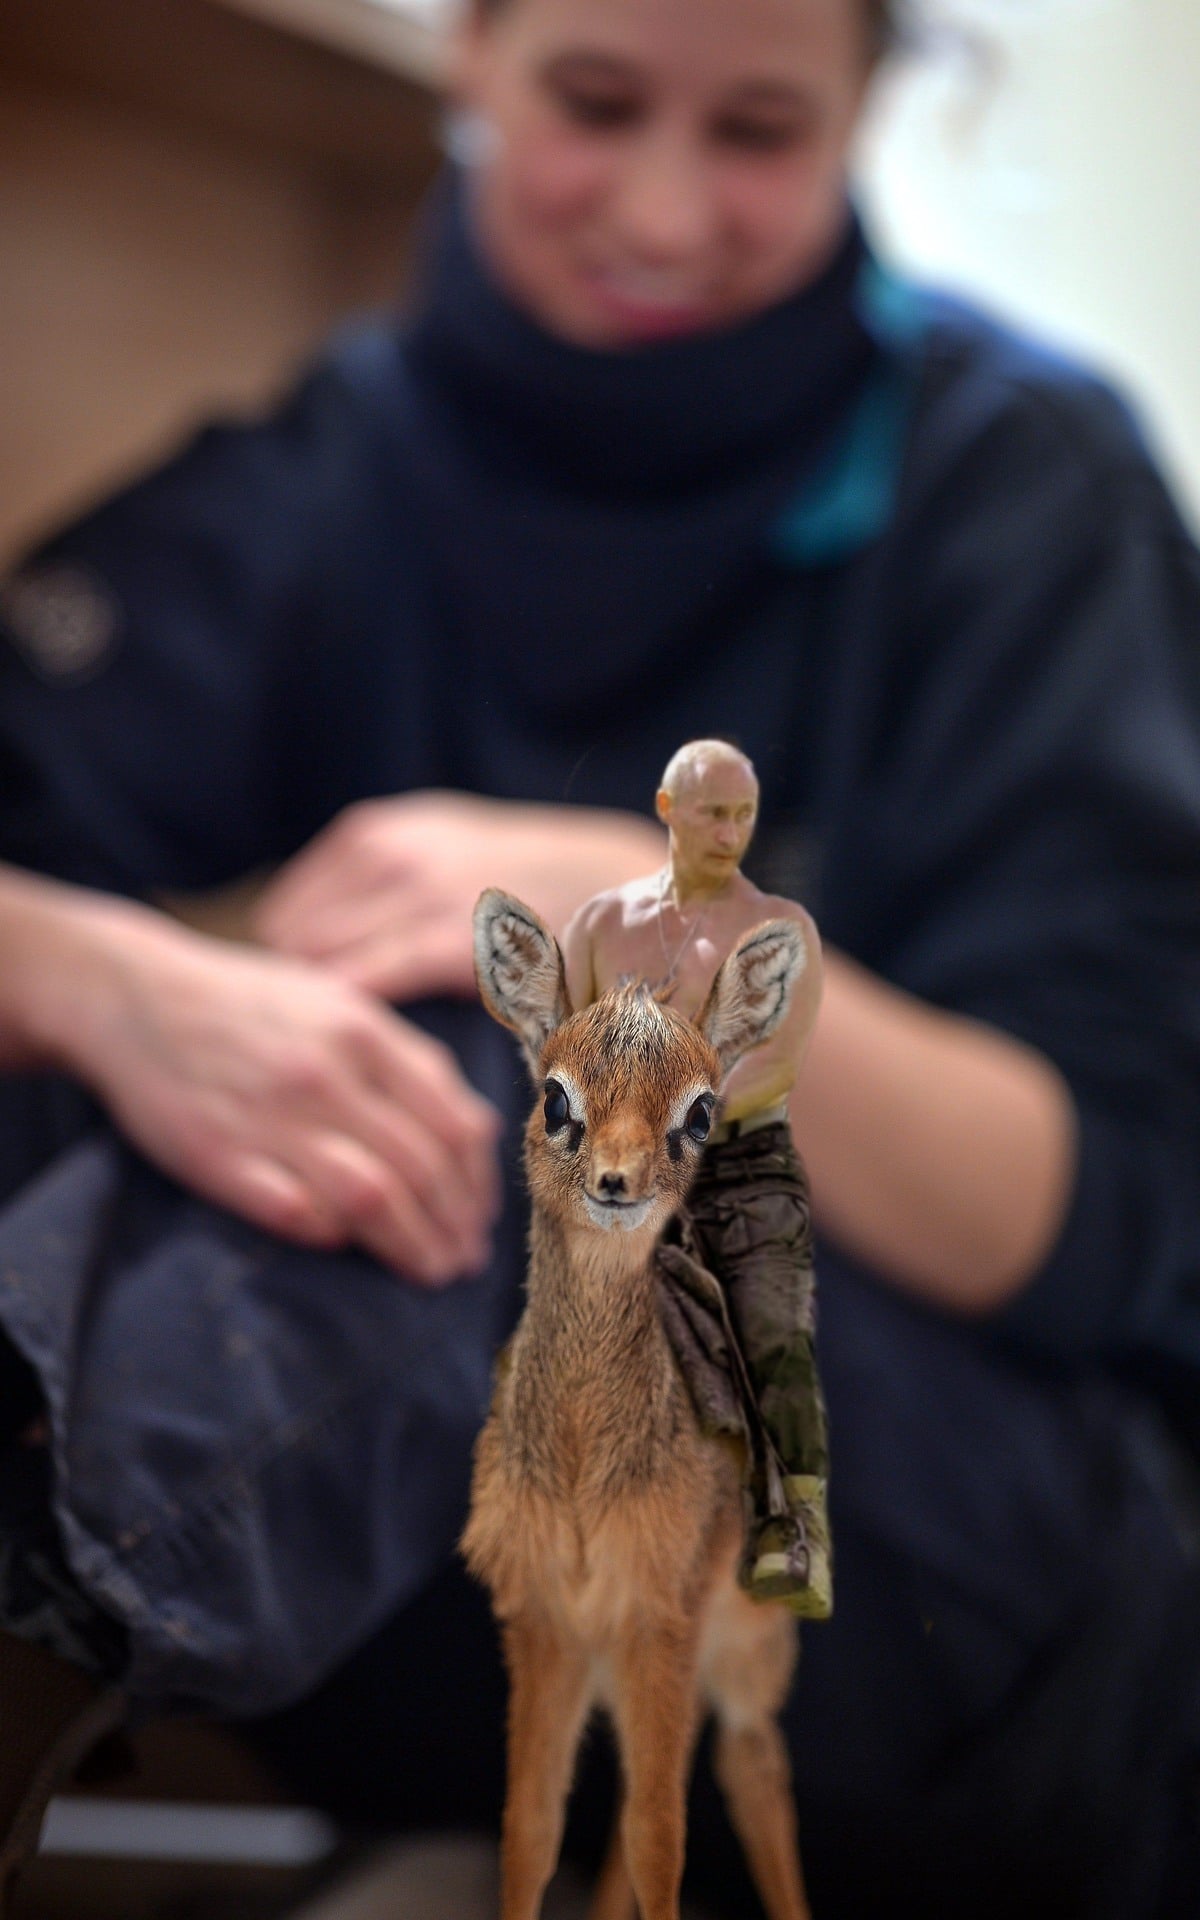
<path id="1" fill-rule="evenodd" d="M 893 257 L 1100 365 L 1200 524 L 1200 0 L 927 0 L 877 90 L 864 205 Z"/>

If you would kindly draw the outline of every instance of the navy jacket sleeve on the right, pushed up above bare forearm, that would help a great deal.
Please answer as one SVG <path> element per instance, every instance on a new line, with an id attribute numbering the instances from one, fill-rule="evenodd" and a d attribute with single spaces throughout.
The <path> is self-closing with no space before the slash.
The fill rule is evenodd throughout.
<path id="1" fill-rule="evenodd" d="M 1125 411 L 1075 376 L 968 392 L 914 467 L 858 849 L 876 960 L 1073 1091 L 1069 1215 L 1000 1331 L 1194 1369 L 1200 557 Z"/>

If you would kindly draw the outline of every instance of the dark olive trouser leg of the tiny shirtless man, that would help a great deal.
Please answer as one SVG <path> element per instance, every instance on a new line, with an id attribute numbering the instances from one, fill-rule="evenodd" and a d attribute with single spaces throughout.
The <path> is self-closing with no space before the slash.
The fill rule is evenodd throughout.
<path id="1" fill-rule="evenodd" d="M 787 1475 L 826 1478 L 816 1373 L 808 1177 L 787 1121 L 708 1146 L 682 1219 L 684 1246 L 714 1273 L 762 1423 Z"/>

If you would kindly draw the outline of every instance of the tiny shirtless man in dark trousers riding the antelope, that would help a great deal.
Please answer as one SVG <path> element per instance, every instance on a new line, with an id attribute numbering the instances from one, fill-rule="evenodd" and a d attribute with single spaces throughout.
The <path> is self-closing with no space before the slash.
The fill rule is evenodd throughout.
<path id="1" fill-rule="evenodd" d="M 758 1599 L 785 1599 L 803 1619 L 828 1619 L 828 1448 L 814 1354 L 812 1229 L 808 1183 L 787 1121 L 787 1094 L 820 1004 L 820 941 L 803 906 L 760 893 L 739 870 L 758 814 L 758 780 L 743 753 L 726 741 L 689 741 L 666 766 L 655 804 L 670 833 L 668 864 L 578 910 L 563 939 L 566 985 L 572 1004 L 588 1006 L 622 979 L 643 979 L 693 1018 L 743 933 L 762 920 L 795 920 L 804 929 L 808 964 L 787 1016 L 730 1075 L 678 1221 L 680 1248 L 660 1258 L 678 1277 L 691 1273 L 710 1286 L 708 1275 L 716 1275 L 722 1283 L 756 1404 L 747 1421 L 751 1507 L 739 1578 Z M 674 1319 L 666 1317 L 668 1332 L 705 1419 L 703 1388 L 697 1392 Z M 732 1373 L 743 1373 L 737 1356 Z"/>

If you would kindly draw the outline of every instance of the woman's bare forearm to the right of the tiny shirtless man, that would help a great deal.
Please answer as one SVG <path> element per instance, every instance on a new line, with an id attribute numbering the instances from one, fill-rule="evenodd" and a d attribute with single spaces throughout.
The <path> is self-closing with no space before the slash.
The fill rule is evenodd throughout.
<path id="1" fill-rule="evenodd" d="M 1058 1236 L 1077 1121 L 1052 1062 L 828 948 L 793 1121 L 826 1231 L 931 1304 L 1004 1306 Z"/>

